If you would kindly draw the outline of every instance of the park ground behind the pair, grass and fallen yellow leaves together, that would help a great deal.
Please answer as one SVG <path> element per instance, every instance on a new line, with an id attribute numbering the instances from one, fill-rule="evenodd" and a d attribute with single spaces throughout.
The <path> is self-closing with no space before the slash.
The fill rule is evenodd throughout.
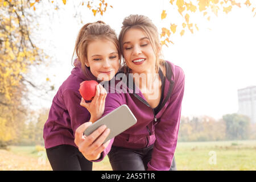
<path id="1" fill-rule="evenodd" d="M 175 159 L 177 170 L 255 171 L 256 140 L 178 142 Z M 52 169 L 45 151 L 37 151 L 35 146 L 10 146 L 9 150 L 0 150 L 1 170 Z M 108 156 L 101 162 L 93 163 L 93 170 L 111 171 Z"/>

